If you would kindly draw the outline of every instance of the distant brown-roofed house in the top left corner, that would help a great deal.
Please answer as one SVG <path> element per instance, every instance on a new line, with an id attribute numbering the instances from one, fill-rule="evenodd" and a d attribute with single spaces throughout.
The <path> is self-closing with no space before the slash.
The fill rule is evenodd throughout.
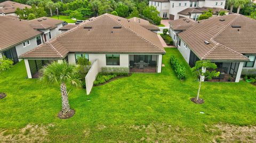
<path id="1" fill-rule="evenodd" d="M 5 1 L 5 2 L 0 3 L 0 15 L 17 16 L 15 11 L 18 8 L 21 9 L 21 10 L 25 9 L 25 7 L 28 7 L 28 9 L 31 8 L 30 5 L 20 4 L 20 3 L 16 3 L 16 2 L 12 2 L 12 1 Z"/>

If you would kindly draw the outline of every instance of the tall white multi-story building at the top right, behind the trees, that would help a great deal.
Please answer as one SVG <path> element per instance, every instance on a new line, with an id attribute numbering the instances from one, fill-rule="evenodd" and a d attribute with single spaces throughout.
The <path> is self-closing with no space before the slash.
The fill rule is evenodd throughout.
<path id="1" fill-rule="evenodd" d="M 179 19 L 178 13 L 187 8 L 219 7 L 224 9 L 225 3 L 225 0 L 150 0 L 149 6 L 155 6 L 156 9 L 159 11 L 159 16 L 161 18 L 176 20 Z"/>

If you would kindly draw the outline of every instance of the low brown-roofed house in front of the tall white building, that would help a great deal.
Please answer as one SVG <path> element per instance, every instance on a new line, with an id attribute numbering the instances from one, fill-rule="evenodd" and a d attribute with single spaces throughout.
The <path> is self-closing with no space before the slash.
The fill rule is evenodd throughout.
<path id="1" fill-rule="evenodd" d="M 229 10 L 222 9 L 221 7 L 195 7 L 195 8 L 187 8 L 185 10 L 182 10 L 178 12 L 179 18 L 189 18 L 197 21 L 199 16 L 203 14 L 204 12 L 209 11 L 209 9 L 212 10 L 212 16 L 218 16 L 219 12 L 224 11 L 226 15 L 229 14 Z"/>

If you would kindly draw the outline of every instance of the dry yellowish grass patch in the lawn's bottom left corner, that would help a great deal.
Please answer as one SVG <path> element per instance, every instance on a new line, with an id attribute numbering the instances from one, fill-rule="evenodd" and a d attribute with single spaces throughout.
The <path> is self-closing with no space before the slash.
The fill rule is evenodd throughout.
<path id="1" fill-rule="evenodd" d="M 28 124 L 21 129 L 0 130 L 0 142 L 45 142 L 53 124 Z"/>

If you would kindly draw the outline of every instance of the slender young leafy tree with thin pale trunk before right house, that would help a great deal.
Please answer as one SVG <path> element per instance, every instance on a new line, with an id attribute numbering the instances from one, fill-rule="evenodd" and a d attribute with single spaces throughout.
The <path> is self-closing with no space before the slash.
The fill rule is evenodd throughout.
<path id="1" fill-rule="evenodd" d="M 197 96 L 196 98 L 192 98 L 195 99 L 195 103 L 203 103 L 203 99 L 199 99 L 202 81 L 204 79 L 212 79 L 213 77 L 218 77 L 220 75 L 220 72 L 216 72 L 215 69 L 217 69 L 217 65 L 215 63 L 204 60 L 197 61 L 196 65 L 191 68 L 191 71 L 196 75 L 196 77 L 199 77 L 199 88 L 197 91 Z"/>

